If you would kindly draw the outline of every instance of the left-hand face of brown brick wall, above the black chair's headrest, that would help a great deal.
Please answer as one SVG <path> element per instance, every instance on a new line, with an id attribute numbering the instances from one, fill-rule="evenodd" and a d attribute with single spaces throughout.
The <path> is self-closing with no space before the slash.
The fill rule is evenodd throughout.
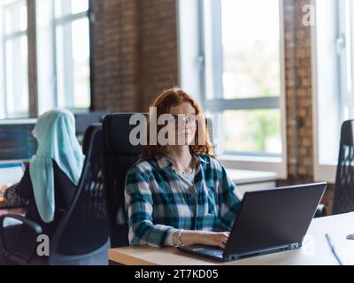
<path id="1" fill-rule="evenodd" d="M 136 0 L 94 1 L 93 110 L 135 111 L 138 93 Z"/>

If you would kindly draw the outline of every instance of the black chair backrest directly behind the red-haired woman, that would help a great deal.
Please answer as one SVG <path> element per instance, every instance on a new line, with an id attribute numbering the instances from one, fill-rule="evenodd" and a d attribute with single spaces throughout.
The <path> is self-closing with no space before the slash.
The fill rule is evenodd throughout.
<path id="1" fill-rule="evenodd" d="M 129 142 L 129 133 L 135 125 L 129 125 L 133 114 L 106 116 L 104 128 L 104 180 L 107 196 L 107 215 L 110 222 L 112 248 L 129 245 L 124 186 L 129 168 L 142 153 L 142 146 Z"/>

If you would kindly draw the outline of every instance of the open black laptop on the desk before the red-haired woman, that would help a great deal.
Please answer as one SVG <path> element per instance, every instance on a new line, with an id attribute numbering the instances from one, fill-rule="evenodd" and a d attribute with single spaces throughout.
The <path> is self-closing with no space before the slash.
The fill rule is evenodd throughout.
<path id="1" fill-rule="evenodd" d="M 225 249 L 181 246 L 189 254 L 234 261 L 302 246 L 327 183 L 314 183 L 245 193 Z"/>

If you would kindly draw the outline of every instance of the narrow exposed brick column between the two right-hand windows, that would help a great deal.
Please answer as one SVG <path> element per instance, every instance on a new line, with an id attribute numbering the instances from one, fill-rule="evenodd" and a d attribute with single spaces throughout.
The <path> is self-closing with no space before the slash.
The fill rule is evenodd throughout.
<path id="1" fill-rule="evenodd" d="M 298 175 L 305 180 L 313 179 L 313 139 L 312 139 L 312 42 L 311 27 L 305 27 L 302 8 L 310 0 L 285 1 L 285 66 L 286 66 L 286 100 L 287 100 L 287 141 L 289 177 Z M 295 9 L 295 60 L 292 60 L 291 25 Z M 293 65 L 295 64 L 295 65 Z M 295 66 L 295 81 L 292 81 Z M 295 83 L 295 96 L 292 83 Z M 295 103 L 295 105 L 293 105 Z M 294 108 L 295 106 L 295 108 Z M 296 111 L 296 126 L 291 117 Z M 294 140 L 294 136 L 297 136 Z M 297 162 L 295 164 L 294 162 Z M 296 169 L 296 172 L 294 172 Z"/>

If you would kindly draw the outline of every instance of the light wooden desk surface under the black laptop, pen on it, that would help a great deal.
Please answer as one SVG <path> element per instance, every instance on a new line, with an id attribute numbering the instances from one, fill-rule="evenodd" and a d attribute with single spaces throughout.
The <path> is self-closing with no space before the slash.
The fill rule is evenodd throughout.
<path id="1" fill-rule="evenodd" d="M 338 264 L 328 247 L 325 234 L 328 233 L 343 264 L 354 265 L 354 241 L 346 236 L 354 233 L 354 212 L 327 218 L 315 218 L 309 227 L 301 249 L 256 256 L 223 265 L 319 265 Z M 174 248 L 127 247 L 110 249 L 108 257 L 119 264 L 141 265 L 206 265 L 219 264 L 199 256 L 189 256 Z"/>

